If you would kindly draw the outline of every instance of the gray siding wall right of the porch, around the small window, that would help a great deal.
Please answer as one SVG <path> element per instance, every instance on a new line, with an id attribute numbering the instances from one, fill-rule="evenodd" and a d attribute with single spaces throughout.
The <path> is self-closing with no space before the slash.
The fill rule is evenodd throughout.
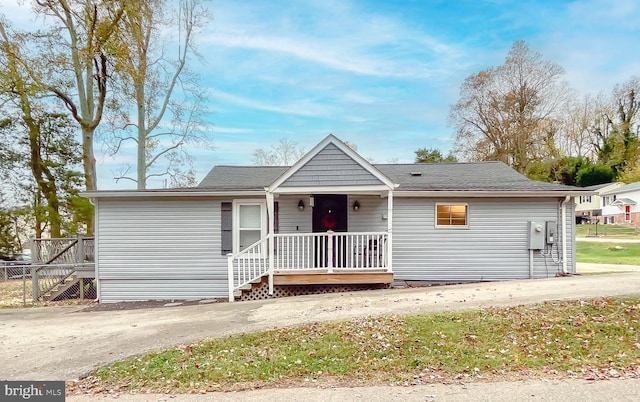
<path id="1" fill-rule="evenodd" d="M 396 281 L 465 282 L 529 277 L 528 226 L 558 222 L 560 199 L 396 198 L 393 216 L 393 270 Z M 468 228 L 436 228 L 435 204 L 466 203 Z M 573 217 L 571 207 L 567 223 Z M 573 226 L 567 225 L 572 233 Z M 559 236 L 559 239 L 561 237 Z M 573 239 L 567 236 L 569 270 L 575 269 Z M 556 261 L 561 244 L 553 246 Z M 546 264 L 545 264 L 546 262 Z M 534 276 L 553 277 L 561 265 L 534 251 Z"/>

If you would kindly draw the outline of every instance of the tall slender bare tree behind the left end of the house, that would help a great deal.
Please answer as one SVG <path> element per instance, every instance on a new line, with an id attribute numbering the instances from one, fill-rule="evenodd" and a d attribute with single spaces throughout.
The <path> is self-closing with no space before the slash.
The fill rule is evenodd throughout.
<path id="1" fill-rule="evenodd" d="M 189 57 L 197 56 L 194 34 L 209 15 L 199 0 L 180 1 L 177 8 L 171 4 L 148 0 L 129 7 L 114 48 L 124 96 L 118 99 L 113 152 L 125 142 L 134 142 L 137 148 L 136 174 L 129 176 L 126 167 L 117 179 L 135 181 L 138 189 L 145 189 L 151 177 L 190 184 L 185 183 L 193 175 L 184 169 L 191 164 L 185 146 L 210 147 L 207 138 L 197 133 L 203 97 L 197 77 L 187 70 Z M 171 37 L 174 32 L 177 39 Z M 162 169 L 157 168 L 160 162 Z"/>

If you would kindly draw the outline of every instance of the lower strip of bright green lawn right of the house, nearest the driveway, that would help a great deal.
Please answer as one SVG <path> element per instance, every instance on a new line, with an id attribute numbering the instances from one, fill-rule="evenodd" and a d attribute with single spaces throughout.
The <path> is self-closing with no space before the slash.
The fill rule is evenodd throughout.
<path id="1" fill-rule="evenodd" d="M 640 243 L 576 242 L 576 261 L 640 265 Z"/>

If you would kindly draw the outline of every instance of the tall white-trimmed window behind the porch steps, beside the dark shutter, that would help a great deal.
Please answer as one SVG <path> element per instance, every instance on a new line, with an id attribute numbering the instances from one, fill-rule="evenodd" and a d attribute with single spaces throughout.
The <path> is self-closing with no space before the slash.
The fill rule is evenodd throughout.
<path id="1" fill-rule="evenodd" d="M 233 249 L 237 253 L 267 234 L 266 205 L 260 201 L 235 201 Z"/>

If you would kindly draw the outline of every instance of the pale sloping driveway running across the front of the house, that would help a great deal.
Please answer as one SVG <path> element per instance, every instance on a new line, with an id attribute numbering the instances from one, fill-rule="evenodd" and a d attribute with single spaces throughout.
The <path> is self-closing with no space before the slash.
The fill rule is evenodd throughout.
<path id="1" fill-rule="evenodd" d="M 0 310 L 0 379 L 71 380 L 149 350 L 314 321 L 640 294 L 640 273 L 374 290 L 124 311 Z"/>

